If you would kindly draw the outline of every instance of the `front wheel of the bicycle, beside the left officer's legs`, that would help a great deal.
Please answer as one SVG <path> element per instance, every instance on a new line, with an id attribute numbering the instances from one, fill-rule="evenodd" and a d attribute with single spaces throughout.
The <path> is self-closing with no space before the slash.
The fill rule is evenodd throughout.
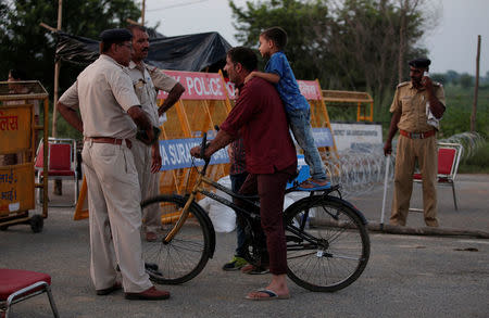
<path id="1" fill-rule="evenodd" d="M 148 242 L 141 236 L 146 271 L 154 282 L 184 283 L 200 274 L 212 257 L 214 231 L 197 204 L 190 205 L 190 216 L 173 240 L 168 243 L 163 241 L 178 220 L 186 201 L 179 195 L 159 195 L 141 203 L 143 211 L 154 208 L 162 216 L 156 241 Z"/>

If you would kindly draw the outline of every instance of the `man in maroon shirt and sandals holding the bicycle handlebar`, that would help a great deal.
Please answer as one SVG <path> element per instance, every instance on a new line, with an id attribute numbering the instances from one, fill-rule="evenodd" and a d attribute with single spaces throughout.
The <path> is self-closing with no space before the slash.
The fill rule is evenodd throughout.
<path id="1" fill-rule="evenodd" d="M 265 289 L 247 295 L 249 300 L 259 301 L 289 297 L 283 207 L 287 180 L 296 175 L 297 155 L 275 87 L 259 77 L 244 84 L 244 78 L 256 68 L 256 55 L 248 48 L 233 48 L 227 52 L 224 71 L 240 93 L 204 155 L 209 157 L 233 140 L 243 139 L 250 175 L 240 193 L 260 195 L 260 216 L 272 272 L 272 282 Z M 192 148 L 190 154 L 200 156 L 200 147 Z"/>

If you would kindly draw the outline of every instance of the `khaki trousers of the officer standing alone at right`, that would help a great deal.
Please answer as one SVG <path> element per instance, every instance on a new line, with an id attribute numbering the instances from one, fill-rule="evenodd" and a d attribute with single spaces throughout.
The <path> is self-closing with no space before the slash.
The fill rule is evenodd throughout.
<path id="1" fill-rule="evenodd" d="M 413 174 L 416 160 L 423 178 L 423 211 L 425 222 L 427 226 L 437 227 L 436 182 L 438 154 L 435 136 L 426 139 L 410 139 L 404 136 L 399 136 L 390 224 L 405 226 L 411 193 L 413 192 Z"/>

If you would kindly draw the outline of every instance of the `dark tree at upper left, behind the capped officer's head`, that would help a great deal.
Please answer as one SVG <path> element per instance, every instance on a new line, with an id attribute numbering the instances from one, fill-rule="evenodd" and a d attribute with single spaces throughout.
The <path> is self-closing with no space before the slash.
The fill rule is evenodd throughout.
<path id="1" fill-rule="evenodd" d="M 97 38 L 103 29 L 125 26 L 126 18 L 140 16 L 133 0 L 70 0 L 63 4 L 63 31 L 87 38 Z M 7 78 L 9 68 L 22 67 L 52 93 L 57 38 L 39 23 L 57 26 L 58 1 L 0 0 L 0 76 Z M 80 71 L 80 67 L 62 65 L 61 91 Z"/>

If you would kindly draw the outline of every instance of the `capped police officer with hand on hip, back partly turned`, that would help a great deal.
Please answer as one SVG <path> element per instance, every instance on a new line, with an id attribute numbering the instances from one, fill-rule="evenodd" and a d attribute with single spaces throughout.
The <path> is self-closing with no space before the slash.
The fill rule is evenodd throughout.
<path id="1" fill-rule="evenodd" d="M 98 295 L 124 288 L 130 300 L 164 300 L 145 270 L 141 208 L 131 144 L 137 126 L 154 133 L 127 73 L 133 50 L 127 29 L 100 35 L 101 55 L 60 98 L 60 114 L 85 137 L 82 153 L 90 211 L 90 274 Z M 80 116 L 75 111 L 79 106 Z M 123 278 L 116 280 L 117 264 Z"/>

